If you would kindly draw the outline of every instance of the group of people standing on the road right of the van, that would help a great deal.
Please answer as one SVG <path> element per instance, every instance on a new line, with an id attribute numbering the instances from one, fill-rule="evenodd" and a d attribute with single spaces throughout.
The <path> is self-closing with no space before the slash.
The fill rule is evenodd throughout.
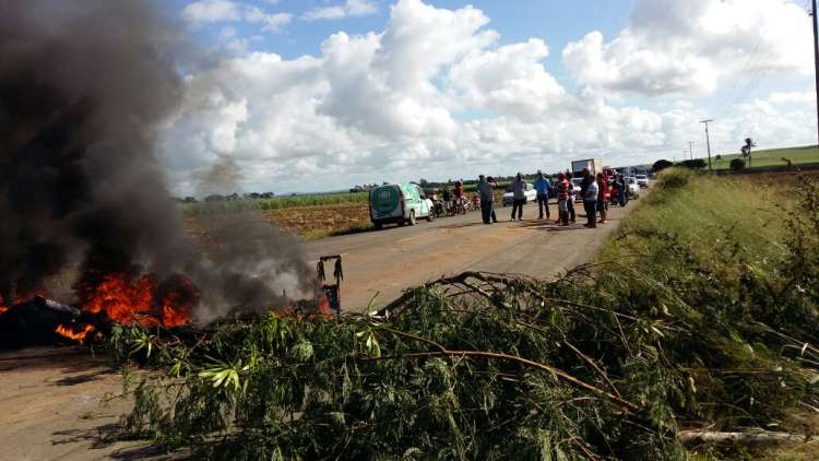
<path id="1" fill-rule="evenodd" d="M 495 179 L 484 175 L 478 177 L 477 191 L 480 196 L 480 215 L 484 224 L 494 224 L 498 222 L 495 214 Z M 569 223 L 575 222 L 574 213 L 574 185 L 571 182 L 571 176 L 568 173 L 557 175 L 557 184 L 553 185 L 546 178 L 543 172 L 537 172 L 534 180 L 534 189 L 537 194 L 538 220 L 544 218 L 544 212 L 547 220 L 551 218 L 549 210 L 549 196 L 557 193 L 558 218 L 557 223 L 568 226 Z M 527 184 L 523 174 L 518 173 L 510 185 L 512 192 L 512 215 L 511 221 L 523 218 L 523 205 L 526 203 Z M 586 213 L 587 222 L 585 227 L 597 227 L 597 224 L 605 224 L 606 213 L 608 211 L 609 190 L 606 177 L 601 173 L 595 177 L 589 169 L 583 169 L 583 179 L 580 182 L 580 194 L 583 200 L 583 209 Z M 600 222 L 597 221 L 600 213 Z"/>

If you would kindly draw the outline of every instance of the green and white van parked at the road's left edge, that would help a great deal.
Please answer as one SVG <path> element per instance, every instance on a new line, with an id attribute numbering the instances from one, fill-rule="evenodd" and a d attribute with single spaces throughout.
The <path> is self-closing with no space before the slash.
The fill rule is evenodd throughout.
<path id="1" fill-rule="evenodd" d="M 420 186 L 401 182 L 370 190 L 370 221 L 377 229 L 384 224 L 412 226 L 419 218 L 435 218 L 435 204 Z"/>

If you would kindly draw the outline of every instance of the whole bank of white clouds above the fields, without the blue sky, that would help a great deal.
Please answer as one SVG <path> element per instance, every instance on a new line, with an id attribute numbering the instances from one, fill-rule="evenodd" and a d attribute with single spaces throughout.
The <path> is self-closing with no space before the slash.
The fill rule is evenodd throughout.
<path id="1" fill-rule="evenodd" d="M 562 50 L 574 81 L 561 83 L 544 64 L 553 50 L 543 38 L 502 43 L 475 8 L 399 0 L 383 31 L 339 32 L 318 56 L 250 51 L 189 75 L 164 150 L 182 193 L 201 190 L 195 178 L 225 159 L 241 172 L 240 189 L 305 191 L 557 170 L 585 155 L 614 164 L 670 158 L 699 139 L 692 137 L 707 115 L 687 97 L 713 92 L 737 72 L 804 70 L 802 46 L 745 66 L 748 56 L 764 57 L 769 46 L 793 39 L 748 38 L 749 27 L 788 26 L 800 36 L 794 29 L 805 20 L 780 0 L 746 1 L 757 14 L 764 10 L 762 20 L 736 17 L 731 0 L 717 7 L 638 0 L 613 42 L 591 33 Z M 233 14 L 221 0 L 200 3 L 209 8 L 187 14 L 199 21 Z M 684 24 L 686 15 L 699 20 Z M 226 39 L 234 35 L 225 31 Z M 733 145 L 748 135 L 760 145 L 814 142 L 808 90 L 745 103 L 714 126 L 714 143 Z M 673 98 L 641 107 L 628 94 Z"/>

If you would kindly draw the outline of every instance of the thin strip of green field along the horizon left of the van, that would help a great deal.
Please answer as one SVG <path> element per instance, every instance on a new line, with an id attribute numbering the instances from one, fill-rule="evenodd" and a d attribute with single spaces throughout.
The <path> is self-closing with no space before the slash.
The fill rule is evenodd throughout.
<path id="1" fill-rule="evenodd" d="M 289 196 L 273 199 L 241 199 L 222 202 L 181 203 L 185 214 L 198 215 L 210 213 L 225 213 L 245 210 L 283 210 L 301 206 L 327 206 L 348 203 L 366 203 L 368 192 L 354 193 L 321 193 L 313 196 Z"/>

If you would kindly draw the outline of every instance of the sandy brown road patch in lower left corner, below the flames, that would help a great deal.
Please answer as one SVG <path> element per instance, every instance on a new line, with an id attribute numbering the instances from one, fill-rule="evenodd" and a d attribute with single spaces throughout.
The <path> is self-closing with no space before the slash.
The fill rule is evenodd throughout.
<path id="1" fill-rule="evenodd" d="M 0 353 L 0 459 L 151 458 L 134 442 L 105 438 L 130 403 L 122 378 L 82 347 Z"/>

